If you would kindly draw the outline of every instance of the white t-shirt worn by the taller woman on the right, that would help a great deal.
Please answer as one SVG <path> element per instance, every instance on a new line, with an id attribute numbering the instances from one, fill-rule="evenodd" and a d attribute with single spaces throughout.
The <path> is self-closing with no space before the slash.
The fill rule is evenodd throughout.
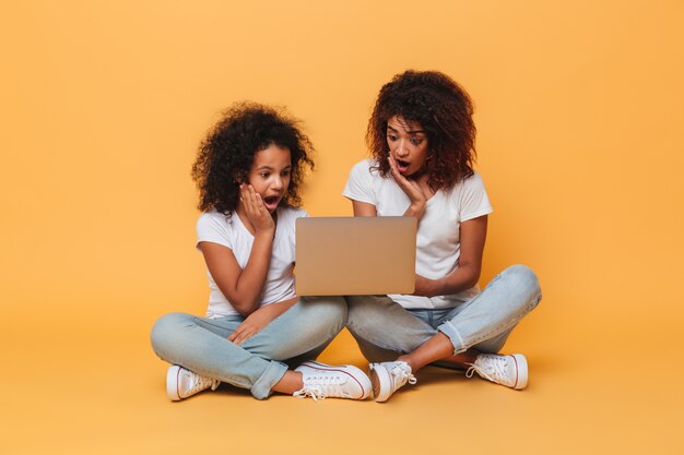
<path id="1" fill-rule="evenodd" d="M 356 164 L 344 187 L 346 197 L 373 204 L 378 216 L 402 216 L 411 200 L 389 176 L 384 178 L 370 167 L 376 161 Z M 438 279 L 453 272 L 460 254 L 460 224 L 492 213 L 484 183 L 477 173 L 448 191 L 437 191 L 425 204 L 416 234 L 415 273 Z M 404 308 L 452 308 L 476 296 L 477 286 L 449 296 L 421 297 L 391 295 Z"/>

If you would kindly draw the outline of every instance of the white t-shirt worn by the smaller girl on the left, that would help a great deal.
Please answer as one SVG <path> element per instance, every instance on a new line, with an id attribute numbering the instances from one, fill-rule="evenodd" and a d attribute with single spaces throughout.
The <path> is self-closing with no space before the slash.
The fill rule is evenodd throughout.
<path id="1" fill-rule="evenodd" d="M 278 207 L 278 224 L 271 251 L 271 264 L 263 285 L 260 306 L 275 303 L 295 297 L 295 280 L 293 270 L 295 265 L 295 219 L 308 216 L 300 208 Z M 237 214 L 227 217 L 219 212 L 205 212 L 197 220 L 197 244 L 213 242 L 229 248 L 244 270 L 249 260 L 255 236 L 247 230 Z M 219 286 L 207 270 L 209 276 L 209 308 L 207 318 L 220 318 L 238 314 L 231 301 L 221 292 Z"/>

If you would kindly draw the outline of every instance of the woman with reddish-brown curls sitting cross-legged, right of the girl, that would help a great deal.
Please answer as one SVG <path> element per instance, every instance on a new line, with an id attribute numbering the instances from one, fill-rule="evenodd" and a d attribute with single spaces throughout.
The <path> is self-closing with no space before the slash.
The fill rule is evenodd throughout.
<path id="1" fill-rule="evenodd" d="M 370 364 L 376 402 L 440 361 L 524 388 L 524 356 L 497 355 L 541 299 L 535 275 L 515 265 L 480 292 L 487 215 L 473 171 L 475 125 L 468 94 L 439 72 L 406 71 L 386 84 L 368 122 L 373 159 L 351 171 L 355 216 L 415 216 L 415 292 L 347 297 L 347 327 Z M 389 361 L 388 361 L 389 360 Z"/>

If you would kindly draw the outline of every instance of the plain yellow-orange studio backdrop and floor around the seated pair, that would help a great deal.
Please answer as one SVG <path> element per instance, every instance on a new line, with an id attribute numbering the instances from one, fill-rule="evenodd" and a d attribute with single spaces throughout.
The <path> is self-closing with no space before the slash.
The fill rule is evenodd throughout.
<path id="1" fill-rule="evenodd" d="M 0 451 L 681 454 L 684 3 L 3 1 Z M 472 95 L 495 213 L 483 283 L 533 267 L 517 393 L 426 369 L 385 405 L 172 404 L 149 330 L 202 314 L 196 147 L 238 99 L 286 106 L 341 195 L 382 83 Z M 323 360 L 364 366 L 349 334 Z"/>

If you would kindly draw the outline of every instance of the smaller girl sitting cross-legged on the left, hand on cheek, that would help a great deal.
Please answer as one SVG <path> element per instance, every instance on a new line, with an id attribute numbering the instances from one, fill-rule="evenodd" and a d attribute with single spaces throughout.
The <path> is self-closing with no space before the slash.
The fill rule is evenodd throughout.
<path id="1" fill-rule="evenodd" d="M 368 378 L 353 366 L 315 359 L 342 330 L 339 297 L 297 299 L 295 219 L 311 144 L 297 121 L 275 109 L 238 104 L 210 131 L 192 167 L 200 190 L 197 248 L 207 263 L 207 318 L 172 313 L 152 330 L 152 346 L 172 363 L 170 399 L 220 382 L 272 392 L 364 399 Z M 288 370 L 288 364 L 298 364 Z"/>

